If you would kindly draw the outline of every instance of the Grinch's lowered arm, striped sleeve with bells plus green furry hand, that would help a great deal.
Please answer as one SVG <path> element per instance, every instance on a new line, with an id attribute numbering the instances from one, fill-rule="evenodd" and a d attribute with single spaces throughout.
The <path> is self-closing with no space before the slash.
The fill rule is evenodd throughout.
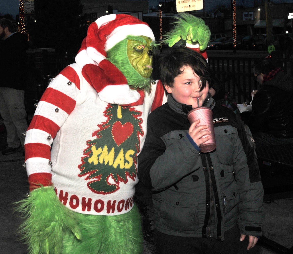
<path id="1" fill-rule="evenodd" d="M 18 202 L 17 211 L 25 219 L 21 237 L 30 250 L 61 252 L 64 229 L 80 239 L 74 212 L 56 195 L 50 161 L 50 145 L 74 109 L 79 87 L 78 75 L 73 68 L 66 67 L 49 84 L 26 132 L 25 164 L 30 193 Z"/>

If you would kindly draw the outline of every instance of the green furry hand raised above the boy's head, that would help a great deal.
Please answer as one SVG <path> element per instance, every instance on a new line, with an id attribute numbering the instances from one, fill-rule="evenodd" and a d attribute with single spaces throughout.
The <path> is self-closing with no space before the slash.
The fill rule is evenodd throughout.
<path id="1" fill-rule="evenodd" d="M 188 44 L 198 43 L 200 51 L 205 50 L 211 35 L 209 27 L 205 25 L 205 21 L 189 13 L 180 13 L 178 15 L 176 17 L 177 21 L 173 23 L 174 28 L 166 33 L 163 42 L 172 47 L 176 42 L 184 40 Z"/>

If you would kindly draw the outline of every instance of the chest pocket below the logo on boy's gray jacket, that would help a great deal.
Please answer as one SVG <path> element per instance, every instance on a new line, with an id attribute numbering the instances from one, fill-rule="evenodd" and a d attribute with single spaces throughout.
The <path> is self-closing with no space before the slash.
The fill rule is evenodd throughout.
<path id="1" fill-rule="evenodd" d="M 219 162 L 222 164 L 231 165 L 233 162 L 233 138 L 236 133 L 236 129 L 232 126 L 219 126 L 214 129 L 217 147 L 221 149 L 216 149 L 217 157 Z M 224 152 L 223 152 L 224 151 Z"/>

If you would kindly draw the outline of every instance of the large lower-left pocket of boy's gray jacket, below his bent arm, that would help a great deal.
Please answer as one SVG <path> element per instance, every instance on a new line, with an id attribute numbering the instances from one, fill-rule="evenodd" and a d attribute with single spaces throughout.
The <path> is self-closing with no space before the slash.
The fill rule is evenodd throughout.
<path id="1" fill-rule="evenodd" d="M 170 194 L 166 193 L 161 197 L 161 224 L 176 231 L 195 231 L 198 228 L 196 198 Z"/>

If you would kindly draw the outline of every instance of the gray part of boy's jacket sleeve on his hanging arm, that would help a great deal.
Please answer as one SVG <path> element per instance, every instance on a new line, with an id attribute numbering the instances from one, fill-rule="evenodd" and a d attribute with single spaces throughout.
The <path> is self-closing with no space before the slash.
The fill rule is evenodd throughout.
<path id="1" fill-rule="evenodd" d="M 237 136 L 233 166 L 240 192 L 239 229 L 241 234 L 261 236 L 264 223 L 263 186 L 261 181 L 251 182 L 242 147 L 241 140 Z"/>

